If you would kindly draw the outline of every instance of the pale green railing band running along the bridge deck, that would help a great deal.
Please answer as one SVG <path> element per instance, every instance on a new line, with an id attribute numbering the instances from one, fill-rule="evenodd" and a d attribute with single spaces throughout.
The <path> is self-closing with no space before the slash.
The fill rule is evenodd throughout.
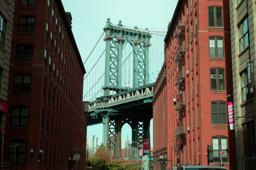
<path id="1" fill-rule="evenodd" d="M 91 108 L 89 108 L 89 111 L 94 110 L 95 108 L 109 107 L 109 106 L 112 106 L 112 105 L 132 101 L 132 100 L 137 100 L 137 99 L 140 99 L 140 98 L 146 98 L 146 97 L 149 97 L 149 96 L 152 96 L 152 95 L 153 95 L 153 91 L 151 90 L 150 93 L 140 94 L 140 95 L 137 95 L 137 96 L 131 96 L 130 98 L 127 98 L 127 99 L 124 98 L 124 99 L 121 99 L 121 100 L 117 99 L 114 102 L 101 102 L 99 104 L 97 103 L 94 106 L 92 106 Z"/>

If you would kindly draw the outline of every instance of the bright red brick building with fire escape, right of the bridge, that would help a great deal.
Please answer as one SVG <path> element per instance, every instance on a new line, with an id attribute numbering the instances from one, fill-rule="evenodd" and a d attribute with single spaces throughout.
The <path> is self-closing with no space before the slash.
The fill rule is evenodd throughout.
<path id="1" fill-rule="evenodd" d="M 165 38 L 165 62 L 153 88 L 154 169 L 157 154 L 175 165 L 234 165 L 228 124 L 232 92 L 229 1 L 178 0 Z M 220 149 L 220 150 L 219 150 Z"/>

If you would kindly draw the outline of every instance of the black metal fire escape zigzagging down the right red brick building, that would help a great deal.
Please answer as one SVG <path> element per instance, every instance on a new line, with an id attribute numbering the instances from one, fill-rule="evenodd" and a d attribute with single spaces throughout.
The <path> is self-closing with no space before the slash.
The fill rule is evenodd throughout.
<path id="1" fill-rule="evenodd" d="M 186 145 L 186 128 L 184 127 L 183 120 L 185 118 L 185 109 L 186 109 L 186 99 L 184 98 L 184 91 L 185 91 L 185 71 L 183 69 L 185 65 L 185 23 L 184 21 L 179 21 L 177 28 L 175 30 L 175 39 L 178 42 L 178 51 L 175 54 L 175 62 L 178 65 L 178 75 L 175 79 L 175 85 L 177 85 L 178 95 L 176 98 L 176 109 L 178 112 L 178 119 L 177 119 L 177 129 L 175 130 L 175 154 L 177 156 L 177 163 L 180 165 L 183 164 L 180 162 L 180 155 L 183 150 L 184 145 Z"/>

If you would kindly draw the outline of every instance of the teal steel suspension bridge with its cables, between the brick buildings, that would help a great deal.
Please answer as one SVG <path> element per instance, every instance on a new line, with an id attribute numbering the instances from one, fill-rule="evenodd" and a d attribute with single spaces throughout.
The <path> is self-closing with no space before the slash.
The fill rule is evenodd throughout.
<path id="1" fill-rule="evenodd" d="M 132 128 L 132 141 L 149 139 L 153 86 L 164 62 L 167 30 L 115 25 L 107 19 L 86 61 L 83 100 L 90 101 L 87 125 L 103 123 L 103 144 L 122 157 L 121 129 Z M 145 132 L 145 133 L 144 133 Z M 137 158 L 132 143 L 131 159 Z"/>

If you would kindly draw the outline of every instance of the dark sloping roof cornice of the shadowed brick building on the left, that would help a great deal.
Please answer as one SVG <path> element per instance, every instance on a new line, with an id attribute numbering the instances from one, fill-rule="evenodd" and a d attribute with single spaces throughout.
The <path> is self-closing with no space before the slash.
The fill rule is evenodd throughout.
<path id="1" fill-rule="evenodd" d="M 69 23 L 68 17 L 67 17 L 66 12 L 65 12 L 65 9 L 63 7 L 63 4 L 62 4 L 61 0 L 55 0 L 55 3 L 56 3 L 56 7 L 59 11 L 60 18 L 63 22 L 64 27 L 65 27 L 65 30 L 68 34 L 69 39 L 70 39 L 70 43 L 72 44 L 73 51 L 74 51 L 74 53 L 77 57 L 80 69 L 82 70 L 82 73 L 85 74 L 86 70 L 85 70 L 85 67 L 84 67 L 84 64 L 83 64 L 83 61 L 82 61 L 82 57 L 81 57 L 81 55 L 79 53 L 79 50 L 78 50 L 78 47 L 76 45 L 75 38 L 74 38 L 72 29 L 71 29 L 71 25 Z"/>

